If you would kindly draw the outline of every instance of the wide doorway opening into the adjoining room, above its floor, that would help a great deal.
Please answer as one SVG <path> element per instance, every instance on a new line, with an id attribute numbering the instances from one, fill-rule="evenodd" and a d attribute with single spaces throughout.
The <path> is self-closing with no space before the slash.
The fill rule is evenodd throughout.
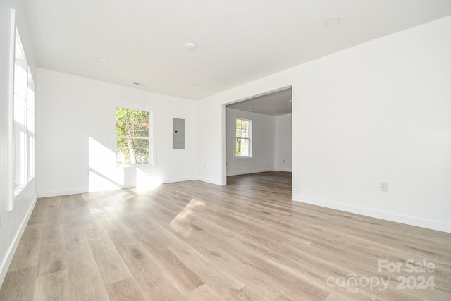
<path id="1" fill-rule="evenodd" d="M 256 173 L 292 184 L 292 87 L 226 106 L 226 181 Z"/>

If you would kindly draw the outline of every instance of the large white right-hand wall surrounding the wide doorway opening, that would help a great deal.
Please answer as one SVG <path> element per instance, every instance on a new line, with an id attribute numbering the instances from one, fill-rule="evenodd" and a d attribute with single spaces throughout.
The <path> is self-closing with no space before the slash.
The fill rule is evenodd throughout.
<path id="1" fill-rule="evenodd" d="M 294 199 L 451 232 L 450 53 L 447 17 L 202 99 L 199 177 L 226 182 L 225 104 L 292 85 Z"/>

